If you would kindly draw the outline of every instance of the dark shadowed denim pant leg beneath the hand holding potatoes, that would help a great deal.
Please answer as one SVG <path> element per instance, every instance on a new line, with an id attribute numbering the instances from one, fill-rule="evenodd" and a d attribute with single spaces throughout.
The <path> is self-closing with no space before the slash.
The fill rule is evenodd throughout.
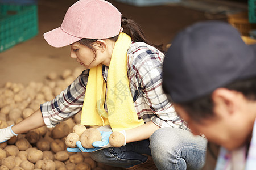
<path id="1" fill-rule="evenodd" d="M 93 160 L 113 167 L 129 168 L 146 162 L 147 156 L 151 155 L 149 139 L 126 143 L 125 146 L 105 148 L 96 152 L 90 152 Z"/>

